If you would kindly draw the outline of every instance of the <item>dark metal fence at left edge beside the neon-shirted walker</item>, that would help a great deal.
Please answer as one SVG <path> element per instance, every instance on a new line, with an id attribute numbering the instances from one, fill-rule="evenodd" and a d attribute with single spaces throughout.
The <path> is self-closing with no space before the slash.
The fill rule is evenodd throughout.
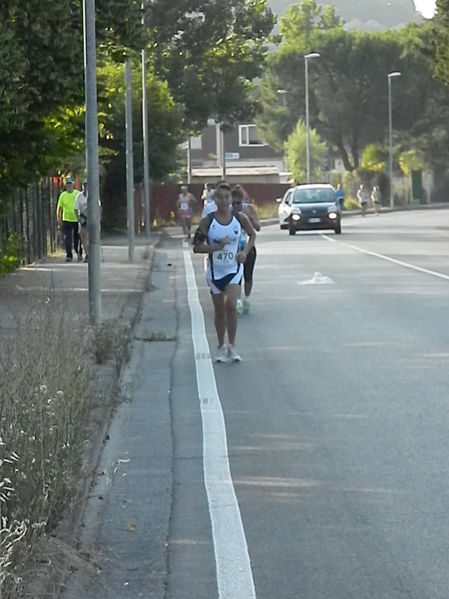
<path id="1" fill-rule="evenodd" d="M 39 260 L 57 247 L 56 204 L 60 180 L 46 178 L 16 190 L 0 204 L 0 252 L 9 235 L 21 248 L 21 262 Z"/>

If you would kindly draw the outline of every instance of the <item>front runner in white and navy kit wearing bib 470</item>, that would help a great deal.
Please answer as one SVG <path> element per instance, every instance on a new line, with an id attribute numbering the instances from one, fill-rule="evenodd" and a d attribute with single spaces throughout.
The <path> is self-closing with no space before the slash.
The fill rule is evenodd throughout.
<path id="1" fill-rule="evenodd" d="M 235 349 L 237 333 L 236 300 L 240 295 L 243 264 L 254 246 L 256 232 L 245 214 L 230 211 L 231 188 L 222 184 L 215 190 L 217 210 L 201 219 L 193 238 L 193 251 L 208 254 L 206 281 L 215 312 L 218 348 L 216 362 L 240 362 Z M 242 229 L 248 235 L 243 250 L 239 250 Z M 228 336 L 228 347 L 225 335 Z"/>

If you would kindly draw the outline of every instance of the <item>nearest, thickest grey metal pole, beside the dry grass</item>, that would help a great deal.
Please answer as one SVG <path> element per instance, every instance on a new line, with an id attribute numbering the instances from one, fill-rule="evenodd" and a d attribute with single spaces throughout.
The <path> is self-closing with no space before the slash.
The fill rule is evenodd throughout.
<path id="1" fill-rule="evenodd" d="M 101 324 L 101 238 L 100 238 L 100 176 L 98 167 L 97 73 L 95 43 L 95 0 L 83 2 L 84 86 L 86 99 L 86 156 L 88 197 L 87 222 L 89 232 L 89 319 Z"/>

